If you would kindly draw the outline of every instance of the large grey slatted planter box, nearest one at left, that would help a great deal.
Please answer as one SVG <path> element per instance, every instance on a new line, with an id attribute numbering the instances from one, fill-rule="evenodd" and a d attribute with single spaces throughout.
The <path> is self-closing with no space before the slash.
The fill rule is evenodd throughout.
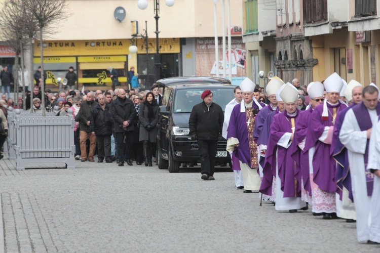
<path id="1" fill-rule="evenodd" d="M 64 162 L 75 168 L 74 118 L 68 116 L 17 115 L 16 169 L 30 163 Z"/>

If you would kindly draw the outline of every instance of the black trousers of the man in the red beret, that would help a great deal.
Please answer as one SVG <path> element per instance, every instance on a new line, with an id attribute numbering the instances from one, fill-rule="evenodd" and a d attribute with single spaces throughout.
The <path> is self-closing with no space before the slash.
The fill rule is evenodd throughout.
<path id="1" fill-rule="evenodd" d="M 213 176 L 215 171 L 215 156 L 217 140 L 198 140 L 198 152 L 201 157 L 201 174 Z"/>

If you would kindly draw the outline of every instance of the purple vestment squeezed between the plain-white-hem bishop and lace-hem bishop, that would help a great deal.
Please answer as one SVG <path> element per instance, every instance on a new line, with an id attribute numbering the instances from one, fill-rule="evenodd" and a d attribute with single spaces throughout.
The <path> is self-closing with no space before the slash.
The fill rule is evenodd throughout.
<path id="1" fill-rule="evenodd" d="M 313 109 L 310 107 L 308 110 L 301 111 L 299 113 L 297 122 L 295 123 L 295 131 L 293 138 L 294 145 L 292 145 L 291 147 L 291 157 L 301 167 L 303 189 L 308 191 L 308 194 L 310 196 L 312 195 L 312 187 L 310 184 L 309 151 L 303 152 L 302 149 L 298 146 L 298 144 L 300 144 L 306 138 L 308 124 L 312 112 Z"/>

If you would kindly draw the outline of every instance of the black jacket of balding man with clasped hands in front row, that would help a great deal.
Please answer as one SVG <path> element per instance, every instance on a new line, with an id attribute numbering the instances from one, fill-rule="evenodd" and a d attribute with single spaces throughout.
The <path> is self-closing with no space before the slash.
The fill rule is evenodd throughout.
<path id="1" fill-rule="evenodd" d="M 115 133 L 124 133 L 134 131 L 134 120 L 136 117 L 136 110 L 132 100 L 125 98 L 117 98 L 112 100 L 110 113 L 113 118 L 113 131 Z M 129 120 L 129 125 L 126 129 L 121 127 L 123 121 Z"/>

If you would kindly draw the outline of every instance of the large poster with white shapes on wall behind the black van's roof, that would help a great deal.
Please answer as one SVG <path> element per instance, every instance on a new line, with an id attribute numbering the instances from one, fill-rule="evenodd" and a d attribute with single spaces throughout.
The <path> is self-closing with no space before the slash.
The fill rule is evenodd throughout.
<path id="1" fill-rule="evenodd" d="M 227 39 L 226 39 L 227 44 Z M 215 40 L 209 38 L 196 39 L 196 74 L 202 76 L 223 76 L 223 49 L 222 38 L 218 38 L 219 61 L 215 60 Z M 231 66 L 229 66 L 229 51 L 231 51 Z M 233 85 L 239 85 L 243 77 L 246 76 L 246 51 L 243 38 L 232 37 L 231 49 L 226 45 L 225 70 L 228 78 L 229 71 L 232 73 Z"/>

